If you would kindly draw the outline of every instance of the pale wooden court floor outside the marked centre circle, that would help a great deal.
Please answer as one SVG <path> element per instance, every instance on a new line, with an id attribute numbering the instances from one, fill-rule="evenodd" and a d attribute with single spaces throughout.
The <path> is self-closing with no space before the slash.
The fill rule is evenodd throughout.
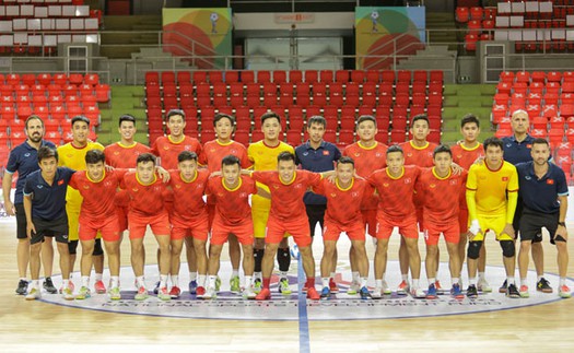
<path id="1" fill-rule="evenodd" d="M 384 320 L 243 321 L 152 317 L 26 302 L 14 294 L 15 221 L 0 223 L 0 352 L 573 352 L 574 298 L 469 315 Z M 574 234 L 572 226 L 571 234 Z M 491 239 L 492 240 L 492 239 Z M 544 239 L 546 271 L 557 272 L 555 249 Z M 148 261 L 155 259 L 147 237 Z M 314 245 L 315 258 L 321 246 Z M 422 239 L 420 246 L 422 249 Z M 389 259 L 396 260 L 396 245 Z M 501 266 L 500 248 L 487 242 L 489 264 Z M 574 250 L 569 245 L 571 254 Z M 444 250 L 444 248 L 443 248 Z M 225 252 L 225 251 L 224 251 Z M 345 257 L 347 249 L 340 251 Z M 372 255 L 372 246 L 368 250 Z M 422 251 L 424 254 L 424 251 Z M 443 251 L 446 254 L 446 251 Z M 445 255 L 443 261 L 445 261 Z M 122 266 L 129 246 L 122 245 Z M 532 264 L 530 264 L 532 267 Z M 57 262 L 55 261 L 55 273 Z M 574 268 L 569 267 L 573 276 Z M 424 271 L 422 283 L 425 283 Z M 445 275 L 445 273 L 443 273 Z M 518 279 L 518 275 L 516 275 Z M 445 283 L 448 283 L 445 281 Z M 491 283 L 496 287 L 500 283 Z M 394 285 L 391 285 L 394 286 Z M 553 283 L 554 291 L 558 286 Z M 532 291 L 532 290 L 531 290 Z M 557 295 L 551 294 L 551 295 Z M 301 344 L 302 340 L 305 341 Z"/>

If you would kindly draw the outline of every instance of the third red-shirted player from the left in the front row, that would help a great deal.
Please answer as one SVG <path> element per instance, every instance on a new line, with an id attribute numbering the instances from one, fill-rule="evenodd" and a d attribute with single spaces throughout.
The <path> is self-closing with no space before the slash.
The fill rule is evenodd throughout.
<path id="1" fill-rule="evenodd" d="M 198 169 L 198 156 L 195 152 L 183 151 L 178 156 L 177 170 L 169 170 L 169 186 L 177 202 L 172 212 L 172 290 L 169 296 L 177 298 L 179 289 L 179 264 L 184 239 L 190 237 L 197 258 L 198 286 L 196 294 L 206 294 L 208 256 L 206 242 L 209 235 L 209 216 L 203 193 L 208 185 L 209 172 Z M 189 240 L 188 240 L 189 242 Z"/>

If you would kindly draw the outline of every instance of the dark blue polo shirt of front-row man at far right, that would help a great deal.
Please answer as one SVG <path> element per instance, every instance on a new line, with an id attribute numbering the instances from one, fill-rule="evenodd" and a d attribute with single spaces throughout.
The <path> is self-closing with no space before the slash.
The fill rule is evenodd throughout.
<path id="1" fill-rule="evenodd" d="M 558 197 L 569 196 L 569 186 L 564 172 L 553 163 L 548 165 L 547 174 L 538 179 L 534 162 L 518 163 L 518 192 L 526 208 L 542 213 L 555 213 L 560 211 Z"/>

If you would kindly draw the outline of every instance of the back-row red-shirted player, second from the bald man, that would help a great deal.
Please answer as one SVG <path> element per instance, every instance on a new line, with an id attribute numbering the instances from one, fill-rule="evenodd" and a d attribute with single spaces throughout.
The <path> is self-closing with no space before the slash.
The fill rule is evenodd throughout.
<path id="1" fill-rule="evenodd" d="M 430 122 L 429 118 L 421 114 L 412 118 L 410 132 L 412 134 L 412 140 L 403 142 L 400 144 L 405 153 L 405 165 L 415 165 L 422 168 L 433 166 L 433 151 L 436 148 L 436 143 L 426 141 L 430 132 Z M 419 231 L 422 232 L 424 225 L 422 223 L 422 200 L 414 195 L 414 207 L 417 209 L 417 221 L 419 223 Z M 402 281 L 397 289 L 397 292 L 405 293 L 409 287 L 409 255 L 405 248 L 405 238 L 400 239 L 399 247 L 399 264 L 400 273 L 402 275 Z M 440 263 L 440 254 L 436 252 L 436 270 L 438 271 Z M 435 283 L 438 292 L 442 293 L 441 283 L 436 281 Z"/>

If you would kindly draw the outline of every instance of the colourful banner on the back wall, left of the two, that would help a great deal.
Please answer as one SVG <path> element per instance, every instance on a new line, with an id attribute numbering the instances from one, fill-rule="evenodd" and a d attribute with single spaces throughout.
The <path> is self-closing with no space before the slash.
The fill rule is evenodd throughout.
<path id="1" fill-rule="evenodd" d="M 230 8 L 163 9 L 164 51 L 188 57 L 199 69 L 226 69 L 232 28 Z"/>

